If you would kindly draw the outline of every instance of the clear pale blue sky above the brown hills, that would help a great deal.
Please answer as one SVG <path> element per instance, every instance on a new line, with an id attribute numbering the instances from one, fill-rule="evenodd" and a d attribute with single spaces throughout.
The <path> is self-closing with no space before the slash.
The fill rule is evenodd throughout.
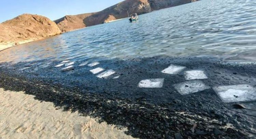
<path id="1" fill-rule="evenodd" d="M 123 0 L 0 0 L 0 23 L 29 13 L 56 20 L 65 15 L 101 11 Z"/>

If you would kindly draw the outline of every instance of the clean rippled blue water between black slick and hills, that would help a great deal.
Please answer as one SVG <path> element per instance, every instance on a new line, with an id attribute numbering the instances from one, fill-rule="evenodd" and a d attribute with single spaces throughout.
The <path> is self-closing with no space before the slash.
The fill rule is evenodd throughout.
<path id="1" fill-rule="evenodd" d="M 223 56 L 256 61 L 256 1 L 201 0 L 0 52 L 0 62 Z"/>

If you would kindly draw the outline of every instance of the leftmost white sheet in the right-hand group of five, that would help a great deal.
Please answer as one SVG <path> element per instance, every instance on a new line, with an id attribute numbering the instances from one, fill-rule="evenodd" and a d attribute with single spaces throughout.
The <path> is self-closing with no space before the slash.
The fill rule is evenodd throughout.
<path id="1" fill-rule="evenodd" d="M 139 88 L 162 88 L 165 78 L 146 79 L 139 82 Z"/>

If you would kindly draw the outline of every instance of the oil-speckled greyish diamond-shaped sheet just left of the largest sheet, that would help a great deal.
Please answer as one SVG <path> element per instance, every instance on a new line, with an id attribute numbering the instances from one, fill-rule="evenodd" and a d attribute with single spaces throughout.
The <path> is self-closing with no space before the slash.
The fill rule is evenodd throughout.
<path id="1" fill-rule="evenodd" d="M 205 85 L 200 80 L 185 81 L 174 84 L 173 86 L 175 90 L 177 90 L 177 92 L 179 92 L 181 95 L 188 95 L 196 92 L 201 92 L 211 88 L 210 86 Z"/>

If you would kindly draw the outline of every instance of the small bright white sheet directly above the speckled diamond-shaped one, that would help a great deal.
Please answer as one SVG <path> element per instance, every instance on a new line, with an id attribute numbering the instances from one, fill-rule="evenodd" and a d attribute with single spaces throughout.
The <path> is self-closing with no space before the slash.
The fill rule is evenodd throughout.
<path id="1" fill-rule="evenodd" d="M 207 75 L 204 73 L 204 71 L 186 71 L 184 72 L 185 79 L 186 80 L 202 80 L 202 79 L 208 79 Z"/>

